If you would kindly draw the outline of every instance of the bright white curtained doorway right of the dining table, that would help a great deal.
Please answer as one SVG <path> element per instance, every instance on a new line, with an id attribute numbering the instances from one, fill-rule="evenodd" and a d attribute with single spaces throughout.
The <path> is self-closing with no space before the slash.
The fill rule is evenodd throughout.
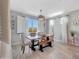
<path id="1" fill-rule="evenodd" d="M 54 41 L 67 43 L 67 17 L 51 19 L 49 21 L 49 33 L 54 34 Z"/>

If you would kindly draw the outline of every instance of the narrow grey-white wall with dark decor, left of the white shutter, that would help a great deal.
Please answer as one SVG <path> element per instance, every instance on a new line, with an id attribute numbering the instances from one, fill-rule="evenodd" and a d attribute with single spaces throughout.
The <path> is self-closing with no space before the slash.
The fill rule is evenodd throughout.
<path id="1" fill-rule="evenodd" d="M 14 25 L 13 25 L 14 24 Z M 11 13 L 11 44 L 18 43 L 21 40 L 20 35 L 17 33 L 17 16 Z"/>

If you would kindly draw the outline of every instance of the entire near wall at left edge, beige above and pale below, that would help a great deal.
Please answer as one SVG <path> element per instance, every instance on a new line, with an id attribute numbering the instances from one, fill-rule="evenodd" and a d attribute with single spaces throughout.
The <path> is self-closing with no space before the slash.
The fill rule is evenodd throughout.
<path id="1" fill-rule="evenodd" d="M 0 59 L 11 59 L 10 0 L 0 0 Z"/>

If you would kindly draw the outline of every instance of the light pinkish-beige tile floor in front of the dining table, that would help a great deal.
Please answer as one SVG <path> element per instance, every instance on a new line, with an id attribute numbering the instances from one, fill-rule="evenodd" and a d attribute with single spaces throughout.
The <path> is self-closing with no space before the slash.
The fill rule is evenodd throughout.
<path id="1" fill-rule="evenodd" d="M 17 59 L 79 59 L 79 47 L 55 43 L 52 48 L 44 48 L 44 52 L 33 52 L 26 48 L 25 53 L 20 53 Z"/>

